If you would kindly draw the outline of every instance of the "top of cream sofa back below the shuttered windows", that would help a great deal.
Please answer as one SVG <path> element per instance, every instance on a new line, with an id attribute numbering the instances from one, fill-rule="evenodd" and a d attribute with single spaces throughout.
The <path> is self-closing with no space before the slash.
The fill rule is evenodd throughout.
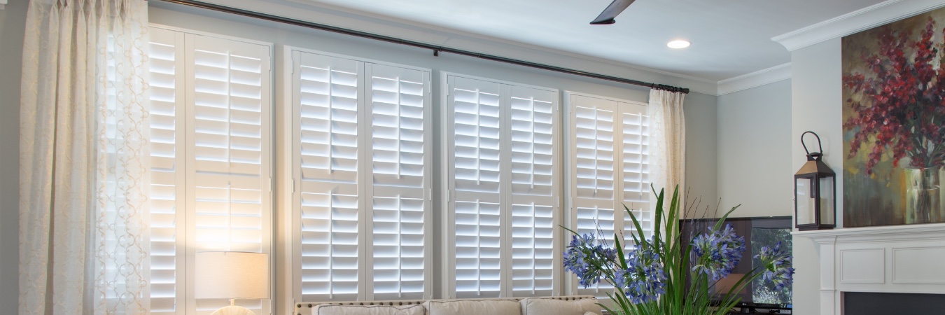
<path id="1" fill-rule="evenodd" d="M 602 315 L 593 296 L 296 304 L 297 315 Z"/>

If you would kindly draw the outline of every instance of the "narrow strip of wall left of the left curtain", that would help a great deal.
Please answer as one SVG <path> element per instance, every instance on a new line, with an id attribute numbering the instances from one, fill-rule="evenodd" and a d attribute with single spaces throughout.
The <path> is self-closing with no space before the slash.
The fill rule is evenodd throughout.
<path id="1" fill-rule="evenodd" d="M 0 10 L 0 313 L 17 314 L 19 295 L 20 74 L 27 1 Z"/>

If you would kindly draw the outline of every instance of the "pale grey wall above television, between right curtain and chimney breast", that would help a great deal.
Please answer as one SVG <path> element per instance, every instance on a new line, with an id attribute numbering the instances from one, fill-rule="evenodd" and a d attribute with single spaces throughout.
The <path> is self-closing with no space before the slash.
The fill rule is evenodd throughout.
<path id="1" fill-rule="evenodd" d="M 790 79 L 718 96 L 718 215 L 793 214 L 791 132 Z"/>

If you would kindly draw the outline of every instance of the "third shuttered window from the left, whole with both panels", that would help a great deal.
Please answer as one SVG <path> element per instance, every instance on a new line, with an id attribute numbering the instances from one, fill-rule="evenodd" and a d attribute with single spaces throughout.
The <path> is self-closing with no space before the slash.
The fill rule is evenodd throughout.
<path id="1" fill-rule="evenodd" d="M 558 294 L 558 91 L 445 74 L 447 297 Z"/>

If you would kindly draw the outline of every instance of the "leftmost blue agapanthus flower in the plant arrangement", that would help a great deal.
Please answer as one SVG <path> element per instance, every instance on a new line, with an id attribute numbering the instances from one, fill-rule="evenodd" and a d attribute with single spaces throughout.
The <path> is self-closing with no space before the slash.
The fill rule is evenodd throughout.
<path id="1" fill-rule="evenodd" d="M 617 259 L 617 250 L 599 244 L 592 234 L 571 236 L 571 244 L 564 251 L 564 270 L 574 272 L 580 285 L 588 288 L 600 282 L 601 266 Z"/>

